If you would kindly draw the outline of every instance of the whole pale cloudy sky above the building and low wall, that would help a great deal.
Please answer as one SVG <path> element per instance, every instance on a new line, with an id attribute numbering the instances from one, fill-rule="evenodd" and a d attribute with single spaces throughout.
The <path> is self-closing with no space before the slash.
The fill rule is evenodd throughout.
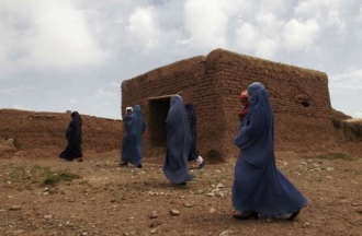
<path id="1" fill-rule="evenodd" d="M 362 117 L 361 0 L 0 0 L 0 108 L 121 118 L 121 82 L 215 48 L 324 71 Z"/>

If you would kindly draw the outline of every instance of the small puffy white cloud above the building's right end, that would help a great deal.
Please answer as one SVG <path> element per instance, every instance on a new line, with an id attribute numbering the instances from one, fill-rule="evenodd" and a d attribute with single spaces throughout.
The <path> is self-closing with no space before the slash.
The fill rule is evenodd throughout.
<path id="1" fill-rule="evenodd" d="M 284 45 L 290 50 L 301 50 L 312 47 L 319 35 L 319 25 L 315 20 L 307 20 L 305 23 L 295 19 L 285 24 L 283 32 Z"/>

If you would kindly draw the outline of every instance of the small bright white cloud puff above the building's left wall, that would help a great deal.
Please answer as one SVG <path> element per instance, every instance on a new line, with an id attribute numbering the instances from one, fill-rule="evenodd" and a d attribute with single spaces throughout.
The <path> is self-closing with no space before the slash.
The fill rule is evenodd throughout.
<path id="1" fill-rule="evenodd" d="M 157 25 L 157 13 L 154 8 L 137 8 L 129 16 L 126 30 L 129 36 L 144 47 L 159 46 L 161 31 Z"/>

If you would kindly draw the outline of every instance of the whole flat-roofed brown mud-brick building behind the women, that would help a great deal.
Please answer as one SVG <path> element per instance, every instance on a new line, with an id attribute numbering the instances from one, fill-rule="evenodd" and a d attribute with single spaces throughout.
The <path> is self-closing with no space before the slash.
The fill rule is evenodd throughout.
<path id="1" fill-rule="evenodd" d="M 256 81 L 270 95 L 276 151 L 340 151 L 332 119 L 347 116 L 331 108 L 326 73 L 223 49 L 123 81 L 122 107 L 140 105 L 147 123 L 144 155 L 163 155 L 170 97 L 180 93 L 195 107 L 201 155 L 210 162 L 228 161 L 238 154 L 234 138 L 240 92 Z"/>

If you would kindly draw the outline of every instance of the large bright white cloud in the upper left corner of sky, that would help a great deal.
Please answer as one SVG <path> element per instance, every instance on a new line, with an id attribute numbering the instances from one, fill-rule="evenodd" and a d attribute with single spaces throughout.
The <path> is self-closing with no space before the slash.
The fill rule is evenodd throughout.
<path id="1" fill-rule="evenodd" d="M 66 69 L 101 62 L 106 58 L 90 34 L 86 19 L 68 0 L 12 1 L 2 4 L 1 39 L 12 66 Z M 5 34 L 4 34 L 5 33 Z"/>

